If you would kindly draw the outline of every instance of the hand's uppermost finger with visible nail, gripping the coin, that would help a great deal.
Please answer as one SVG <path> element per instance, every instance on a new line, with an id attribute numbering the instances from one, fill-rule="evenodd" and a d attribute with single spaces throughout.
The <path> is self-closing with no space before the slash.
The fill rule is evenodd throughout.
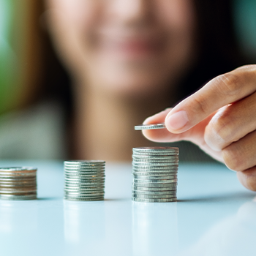
<path id="1" fill-rule="evenodd" d="M 247 65 L 219 75 L 202 89 L 184 99 L 165 118 L 173 133 L 185 132 L 214 111 L 249 96 L 256 90 L 256 65 Z"/>

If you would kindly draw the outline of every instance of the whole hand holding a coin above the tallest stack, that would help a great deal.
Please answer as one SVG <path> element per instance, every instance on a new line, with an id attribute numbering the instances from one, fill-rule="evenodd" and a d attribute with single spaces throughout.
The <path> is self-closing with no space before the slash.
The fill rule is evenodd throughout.
<path id="1" fill-rule="evenodd" d="M 256 191 L 256 65 L 219 75 L 173 109 L 147 118 L 167 129 L 144 130 L 157 142 L 189 140 Z"/>

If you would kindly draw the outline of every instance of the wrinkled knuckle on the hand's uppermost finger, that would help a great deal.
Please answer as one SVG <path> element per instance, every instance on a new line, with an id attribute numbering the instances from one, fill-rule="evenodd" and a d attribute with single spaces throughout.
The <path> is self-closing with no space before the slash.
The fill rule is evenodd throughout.
<path id="1" fill-rule="evenodd" d="M 242 80 L 241 75 L 235 75 L 231 72 L 219 75 L 216 78 L 217 89 L 220 94 L 224 94 L 225 96 L 236 96 L 241 92 Z"/>

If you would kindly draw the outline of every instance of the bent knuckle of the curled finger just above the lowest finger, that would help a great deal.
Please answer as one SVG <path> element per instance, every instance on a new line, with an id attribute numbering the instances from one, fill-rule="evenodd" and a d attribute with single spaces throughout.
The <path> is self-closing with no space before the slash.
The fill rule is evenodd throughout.
<path id="1" fill-rule="evenodd" d="M 241 171 L 246 169 L 243 154 L 236 143 L 222 149 L 222 158 L 230 170 Z"/>

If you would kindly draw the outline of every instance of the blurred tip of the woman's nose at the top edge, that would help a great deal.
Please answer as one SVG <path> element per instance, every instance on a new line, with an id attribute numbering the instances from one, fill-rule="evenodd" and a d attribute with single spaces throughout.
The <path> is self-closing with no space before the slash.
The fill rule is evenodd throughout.
<path id="1" fill-rule="evenodd" d="M 151 0 L 113 0 L 110 12 L 127 25 L 145 23 L 150 16 Z"/>

